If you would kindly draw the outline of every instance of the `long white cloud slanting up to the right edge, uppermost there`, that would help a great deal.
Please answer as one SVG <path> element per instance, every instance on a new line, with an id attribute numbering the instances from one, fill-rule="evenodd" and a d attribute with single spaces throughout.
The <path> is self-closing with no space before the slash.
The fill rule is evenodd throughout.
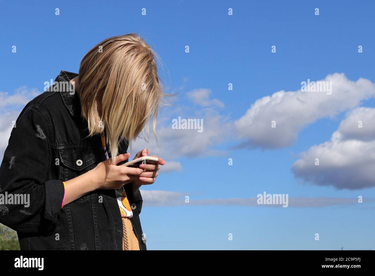
<path id="1" fill-rule="evenodd" d="M 306 80 L 307 81 L 307 80 Z M 276 92 L 263 97 L 234 122 L 240 148 L 274 149 L 290 146 L 300 130 L 320 118 L 332 117 L 356 107 L 362 100 L 375 95 L 374 84 L 366 79 L 348 80 L 344 74 L 327 75 L 332 94 L 326 92 Z M 276 128 L 271 122 L 276 122 Z"/>

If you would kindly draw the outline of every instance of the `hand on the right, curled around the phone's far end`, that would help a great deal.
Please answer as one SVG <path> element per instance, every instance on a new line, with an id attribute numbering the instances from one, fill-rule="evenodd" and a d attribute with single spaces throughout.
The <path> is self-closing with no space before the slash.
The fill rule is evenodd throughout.
<path id="1" fill-rule="evenodd" d="M 148 156 L 148 149 L 142 149 L 141 151 L 139 151 L 135 155 L 134 159 L 142 156 Z M 139 168 L 141 168 L 144 171 L 138 176 L 136 180 L 132 181 L 133 192 L 138 190 L 139 187 L 141 187 L 142 185 L 153 184 L 156 180 L 157 175 L 159 175 L 159 165 L 165 164 L 165 161 L 162 158 L 157 157 L 156 155 L 151 155 L 151 157 L 156 157 L 159 159 L 159 161 L 157 161 L 154 164 L 139 164 Z"/>

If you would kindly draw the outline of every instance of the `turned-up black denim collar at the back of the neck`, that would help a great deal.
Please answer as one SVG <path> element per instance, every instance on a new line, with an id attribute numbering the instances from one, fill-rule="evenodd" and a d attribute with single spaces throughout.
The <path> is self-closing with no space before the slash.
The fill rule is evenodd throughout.
<path id="1" fill-rule="evenodd" d="M 70 80 L 77 76 L 78 74 L 76 73 L 62 70 L 55 79 L 59 85 L 54 87 L 54 90 L 56 89 L 60 92 L 64 105 L 68 109 L 69 113 L 71 113 L 71 115 L 74 117 L 81 117 L 81 103 L 77 92 L 74 91 L 73 93 L 69 91 L 69 89 L 60 89 L 61 87 L 68 87 L 66 84 L 69 84 Z"/>

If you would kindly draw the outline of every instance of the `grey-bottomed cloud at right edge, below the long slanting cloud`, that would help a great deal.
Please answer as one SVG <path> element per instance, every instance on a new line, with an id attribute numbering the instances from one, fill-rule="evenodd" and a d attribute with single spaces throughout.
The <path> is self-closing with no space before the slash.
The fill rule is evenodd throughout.
<path id="1" fill-rule="evenodd" d="M 352 110 L 330 141 L 300 154 L 292 171 L 297 178 L 319 186 L 362 189 L 375 186 L 375 109 Z M 361 126 L 362 127 L 359 127 Z M 319 166 L 315 165 L 319 158 Z"/>

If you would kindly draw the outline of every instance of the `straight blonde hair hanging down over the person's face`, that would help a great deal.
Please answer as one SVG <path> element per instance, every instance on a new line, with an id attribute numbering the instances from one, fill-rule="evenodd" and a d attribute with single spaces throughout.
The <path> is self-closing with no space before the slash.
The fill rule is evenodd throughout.
<path id="1" fill-rule="evenodd" d="M 106 129 L 113 159 L 121 140 L 128 140 L 131 147 L 144 128 L 148 137 L 151 118 L 156 138 L 156 116 L 165 94 L 155 56 L 144 39 L 130 33 L 105 39 L 81 61 L 82 116 L 88 122 L 89 136 Z"/>

